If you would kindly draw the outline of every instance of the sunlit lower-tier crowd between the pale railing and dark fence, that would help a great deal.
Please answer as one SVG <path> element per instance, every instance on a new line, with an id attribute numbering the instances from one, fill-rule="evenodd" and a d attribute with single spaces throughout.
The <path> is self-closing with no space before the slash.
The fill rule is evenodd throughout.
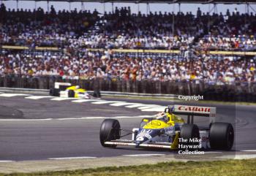
<path id="1" fill-rule="evenodd" d="M 30 77 L 58 76 L 63 79 L 105 80 L 203 80 L 209 84 L 255 82 L 254 60 L 211 58 L 196 60 L 177 58 L 115 57 L 111 51 L 85 51 L 80 59 L 67 54 L 0 56 L 0 74 L 23 74 Z"/>

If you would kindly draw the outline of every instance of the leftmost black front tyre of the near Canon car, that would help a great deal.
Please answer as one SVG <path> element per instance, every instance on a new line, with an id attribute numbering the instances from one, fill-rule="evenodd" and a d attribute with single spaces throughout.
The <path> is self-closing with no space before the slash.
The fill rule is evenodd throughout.
<path id="1" fill-rule="evenodd" d="M 116 139 L 120 139 L 120 123 L 116 119 L 105 119 L 100 126 L 100 143 L 105 148 L 116 148 L 116 145 L 105 145 L 105 142 Z"/>

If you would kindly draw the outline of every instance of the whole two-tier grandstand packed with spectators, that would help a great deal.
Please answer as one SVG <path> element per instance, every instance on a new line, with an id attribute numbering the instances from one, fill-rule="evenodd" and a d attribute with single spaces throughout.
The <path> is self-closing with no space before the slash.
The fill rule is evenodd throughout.
<path id="1" fill-rule="evenodd" d="M 161 2 L 244 3 L 249 8 L 256 1 Z M 199 86 L 201 91 L 205 91 L 206 85 L 246 85 L 240 91 L 254 91 L 254 12 L 227 10 L 225 14 L 210 15 L 198 8 L 197 15 L 190 12 L 145 15 L 133 14 L 129 7 L 116 7 L 113 12 L 101 15 L 96 9 L 56 12 L 50 7 L 49 12 L 44 12 L 39 7 L 32 12 L 6 9 L 1 4 L 0 23 L 1 77 L 101 79 L 108 83 L 121 80 L 131 82 L 130 86 L 144 80 L 194 83 L 203 84 Z"/>

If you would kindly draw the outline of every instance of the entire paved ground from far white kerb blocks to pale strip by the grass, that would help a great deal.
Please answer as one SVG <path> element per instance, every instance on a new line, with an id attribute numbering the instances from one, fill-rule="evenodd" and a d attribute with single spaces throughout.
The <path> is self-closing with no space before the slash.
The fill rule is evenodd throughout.
<path id="1" fill-rule="evenodd" d="M 203 156 L 184 156 L 178 155 L 177 151 L 127 147 L 113 149 L 100 145 L 99 127 L 104 118 L 116 118 L 121 129 L 132 130 L 140 126 L 142 118 L 152 117 L 172 104 L 217 107 L 217 121 L 229 122 L 234 126 L 236 140 L 233 150 L 208 150 Z M 72 99 L 0 93 L 0 168 L 10 166 L 11 163 L 31 161 L 61 161 L 62 166 L 65 166 L 67 161 L 70 164 L 81 160 L 83 164 L 88 162 L 86 166 L 90 166 L 91 161 L 97 163 L 97 166 L 108 166 L 122 163 L 125 165 L 137 160 L 138 164 L 156 163 L 178 157 L 181 160 L 184 157 L 255 158 L 255 114 L 255 106 L 239 104 L 107 97 Z M 198 126 L 207 126 L 208 118 L 195 118 L 195 123 Z"/>

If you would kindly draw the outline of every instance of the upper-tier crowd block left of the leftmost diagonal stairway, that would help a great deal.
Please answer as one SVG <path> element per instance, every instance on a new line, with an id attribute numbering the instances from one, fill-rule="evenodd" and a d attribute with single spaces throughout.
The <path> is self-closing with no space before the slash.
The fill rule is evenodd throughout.
<path id="1" fill-rule="evenodd" d="M 83 35 L 99 20 L 98 12 L 67 10 L 50 12 L 42 8 L 31 10 L 0 7 L 0 39 L 7 45 L 67 47 L 69 39 Z"/>

